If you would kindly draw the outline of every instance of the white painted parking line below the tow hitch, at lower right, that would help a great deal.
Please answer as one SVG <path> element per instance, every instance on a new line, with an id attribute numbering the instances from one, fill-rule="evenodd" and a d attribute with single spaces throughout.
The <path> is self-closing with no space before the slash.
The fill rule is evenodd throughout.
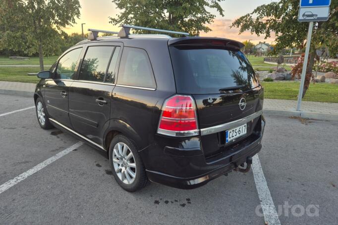
<path id="1" fill-rule="evenodd" d="M 265 222 L 268 222 L 269 225 L 281 225 L 257 154 L 252 157 L 252 172 L 258 196 L 261 200 Z"/>

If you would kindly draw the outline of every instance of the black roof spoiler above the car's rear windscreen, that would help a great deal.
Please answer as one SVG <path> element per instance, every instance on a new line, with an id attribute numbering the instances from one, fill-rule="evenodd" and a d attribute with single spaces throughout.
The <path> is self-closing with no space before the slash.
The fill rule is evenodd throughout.
<path id="1" fill-rule="evenodd" d="M 186 38 L 172 38 L 168 41 L 169 46 L 173 45 L 215 45 L 224 46 L 231 50 L 239 51 L 244 45 L 240 42 L 225 39 L 225 38 L 207 38 L 207 37 L 186 37 Z"/>

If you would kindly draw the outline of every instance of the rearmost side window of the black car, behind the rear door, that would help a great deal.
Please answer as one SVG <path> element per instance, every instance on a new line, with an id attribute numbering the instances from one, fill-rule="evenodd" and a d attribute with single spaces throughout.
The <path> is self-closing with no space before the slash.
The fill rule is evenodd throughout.
<path id="1" fill-rule="evenodd" d="M 117 84 L 156 88 L 150 60 L 144 49 L 134 47 L 123 48 Z"/>

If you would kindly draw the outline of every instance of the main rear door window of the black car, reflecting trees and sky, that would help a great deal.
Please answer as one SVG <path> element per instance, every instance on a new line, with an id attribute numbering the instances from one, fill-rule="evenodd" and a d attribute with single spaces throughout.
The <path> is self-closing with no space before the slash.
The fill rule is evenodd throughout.
<path id="1" fill-rule="evenodd" d="M 83 59 L 79 80 L 103 82 L 113 46 L 89 46 Z"/>

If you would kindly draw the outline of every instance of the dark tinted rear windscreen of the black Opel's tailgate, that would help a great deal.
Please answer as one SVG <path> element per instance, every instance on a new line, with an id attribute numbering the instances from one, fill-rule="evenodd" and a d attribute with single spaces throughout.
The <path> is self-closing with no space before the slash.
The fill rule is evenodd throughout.
<path id="1" fill-rule="evenodd" d="M 189 45 L 169 46 L 179 93 L 211 94 L 221 89 L 250 90 L 259 85 L 241 51 Z"/>

